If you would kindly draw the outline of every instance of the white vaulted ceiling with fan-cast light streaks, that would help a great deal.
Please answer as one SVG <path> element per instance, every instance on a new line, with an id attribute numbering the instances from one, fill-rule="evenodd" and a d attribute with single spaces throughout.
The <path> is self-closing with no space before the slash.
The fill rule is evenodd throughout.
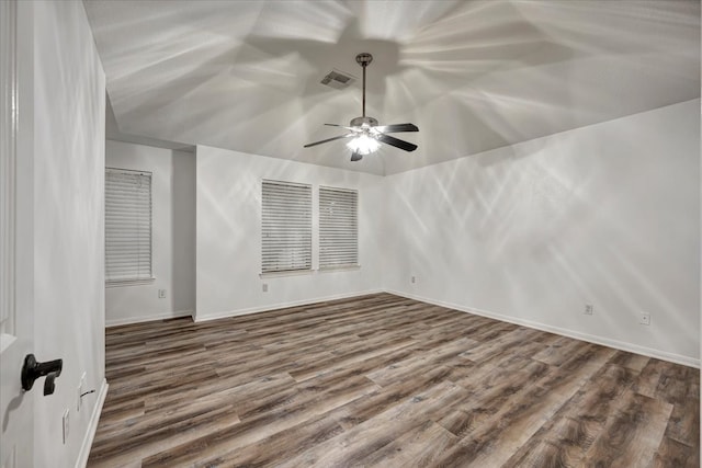
<path id="1" fill-rule="evenodd" d="M 133 141 L 208 145 L 392 174 L 700 96 L 699 0 L 84 0 L 118 125 Z M 350 162 L 366 114 L 411 122 L 414 152 Z"/>

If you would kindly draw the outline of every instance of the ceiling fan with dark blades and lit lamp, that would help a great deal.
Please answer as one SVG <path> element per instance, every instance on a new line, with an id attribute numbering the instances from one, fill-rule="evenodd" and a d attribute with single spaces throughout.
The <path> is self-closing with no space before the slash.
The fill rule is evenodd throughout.
<path id="1" fill-rule="evenodd" d="M 365 115 L 365 67 L 373 61 L 371 54 L 359 54 L 355 56 L 355 61 L 363 67 L 363 115 L 351 119 L 349 126 L 339 124 L 325 124 L 331 127 L 341 127 L 349 130 L 346 135 L 338 137 L 327 138 L 320 141 L 310 142 L 305 145 L 305 148 L 310 146 L 321 145 L 322 142 L 333 141 L 342 138 L 352 138 L 347 146 L 351 150 L 351 161 L 360 161 L 363 156 L 370 155 L 381 147 L 381 142 L 394 146 L 405 151 L 414 151 L 417 149 L 417 145 L 409 141 L 405 141 L 387 134 L 398 132 L 419 132 L 419 128 L 415 124 L 395 124 L 395 125 L 377 125 L 377 121 L 373 117 L 366 117 Z"/>

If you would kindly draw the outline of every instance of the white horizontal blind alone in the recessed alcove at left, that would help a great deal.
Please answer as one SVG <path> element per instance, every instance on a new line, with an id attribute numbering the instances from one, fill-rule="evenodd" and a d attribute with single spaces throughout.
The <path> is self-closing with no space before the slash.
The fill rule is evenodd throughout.
<path id="1" fill-rule="evenodd" d="M 151 279 L 151 173 L 105 171 L 105 279 Z"/>

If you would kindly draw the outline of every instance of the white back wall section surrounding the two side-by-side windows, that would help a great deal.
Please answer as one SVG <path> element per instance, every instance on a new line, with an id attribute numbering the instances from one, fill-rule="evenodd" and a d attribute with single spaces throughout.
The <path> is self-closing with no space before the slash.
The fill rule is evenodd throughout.
<path id="1" fill-rule="evenodd" d="M 356 189 L 361 267 L 261 278 L 262 179 L 313 184 L 313 213 L 320 184 Z M 381 289 L 381 176 L 199 146 L 196 180 L 197 320 Z M 317 243 L 313 229 L 313 267 Z"/>

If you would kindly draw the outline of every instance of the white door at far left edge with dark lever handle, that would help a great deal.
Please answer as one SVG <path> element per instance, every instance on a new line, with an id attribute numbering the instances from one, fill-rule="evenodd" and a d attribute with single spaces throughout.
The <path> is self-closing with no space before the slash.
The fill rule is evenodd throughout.
<path id="1" fill-rule="evenodd" d="M 31 57 L 20 57 L 26 36 L 18 34 L 23 26 L 31 34 L 32 10 L 22 3 L 30 2 L 0 1 L 0 468 L 33 465 L 37 391 L 24 392 L 20 379 L 34 333 L 32 124 L 21 113 L 32 81 L 19 84 Z"/>

